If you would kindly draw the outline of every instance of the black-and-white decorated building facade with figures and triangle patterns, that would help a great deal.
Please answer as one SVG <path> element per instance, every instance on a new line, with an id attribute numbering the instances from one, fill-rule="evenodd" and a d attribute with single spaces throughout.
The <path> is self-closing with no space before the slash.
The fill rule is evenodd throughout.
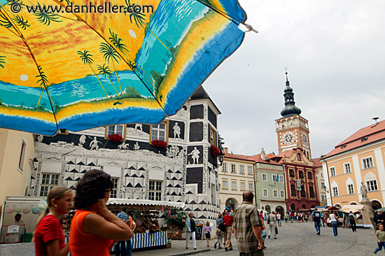
<path id="1" fill-rule="evenodd" d="M 37 136 L 28 194 L 46 196 L 51 187 L 74 189 L 90 169 L 113 179 L 112 198 L 176 201 L 196 218 L 219 213 L 217 143 L 221 112 L 200 87 L 175 114 L 158 125 L 128 124 Z M 109 135 L 119 134 L 113 143 Z M 154 140 L 167 142 L 155 146 Z"/>

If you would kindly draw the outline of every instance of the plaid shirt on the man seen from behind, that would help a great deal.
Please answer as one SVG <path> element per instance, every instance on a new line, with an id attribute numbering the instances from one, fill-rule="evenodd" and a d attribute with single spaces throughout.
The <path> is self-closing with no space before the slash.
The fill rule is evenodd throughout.
<path id="1" fill-rule="evenodd" d="M 257 208 L 244 201 L 235 212 L 234 228 L 237 229 L 239 253 L 253 253 L 258 250 L 258 241 L 253 226 L 262 226 Z"/>

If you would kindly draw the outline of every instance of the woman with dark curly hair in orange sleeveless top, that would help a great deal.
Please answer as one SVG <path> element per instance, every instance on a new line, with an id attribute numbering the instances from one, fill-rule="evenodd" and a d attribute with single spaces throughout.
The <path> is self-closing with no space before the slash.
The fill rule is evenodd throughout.
<path id="1" fill-rule="evenodd" d="M 76 185 L 75 207 L 71 222 L 69 248 L 71 255 L 110 255 L 114 240 L 131 239 L 127 222 L 116 217 L 106 206 L 113 187 L 111 176 L 90 170 Z"/>

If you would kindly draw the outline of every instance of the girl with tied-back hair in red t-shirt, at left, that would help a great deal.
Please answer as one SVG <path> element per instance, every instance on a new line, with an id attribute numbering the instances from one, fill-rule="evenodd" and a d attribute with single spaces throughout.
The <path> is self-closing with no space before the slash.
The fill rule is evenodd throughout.
<path id="1" fill-rule="evenodd" d="M 41 213 L 34 232 L 36 256 L 68 255 L 69 244 L 64 243 L 59 219 L 72 208 L 73 194 L 68 187 L 52 187 L 48 193 L 48 206 Z"/>

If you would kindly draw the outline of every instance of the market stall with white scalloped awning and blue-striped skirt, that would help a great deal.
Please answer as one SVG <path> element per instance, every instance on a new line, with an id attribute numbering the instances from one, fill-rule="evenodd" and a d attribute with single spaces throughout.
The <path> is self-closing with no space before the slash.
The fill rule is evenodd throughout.
<path id="1" fill-rule="evenodd" d="M 115 214 L 119 213 L 123 206 L 126 206 L 128 211 L 131 211 L 132 219 L 137 223 L 137 228 L 134 230 L 134 236 L 132 237 L 132 248 L 139 249 L 167 246 L 167 243 L 170 242 L 167 232 L 169 230 L 172 231 L 168 227 L 167 222 L 174 223 L 169 220 L 178 219 L 178 213 L 185 204 L 171 201 L 135 199 L 109 199 L 107 201 L 107 207 Z M 172 232 L 175 232 L 175 230 Z"/>

